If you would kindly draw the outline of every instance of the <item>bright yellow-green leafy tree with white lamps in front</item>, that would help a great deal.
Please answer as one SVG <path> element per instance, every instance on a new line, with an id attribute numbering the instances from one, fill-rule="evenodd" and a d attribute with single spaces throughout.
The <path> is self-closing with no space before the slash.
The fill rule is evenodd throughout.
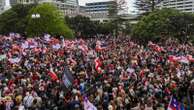
<path id="1" fill-rule="evenodd" d="M 33 15 L 39 15 L 33 18 Z M 28 14 L 28 25 L 26 28 L 29 36 L 39 36 L 44 33 L 51 35 L 63 35 L 67 38 L 73 37 L 73 32 L 67 27 L 59 10 L 52 4 L 40 4 L 32 8 Z"/>

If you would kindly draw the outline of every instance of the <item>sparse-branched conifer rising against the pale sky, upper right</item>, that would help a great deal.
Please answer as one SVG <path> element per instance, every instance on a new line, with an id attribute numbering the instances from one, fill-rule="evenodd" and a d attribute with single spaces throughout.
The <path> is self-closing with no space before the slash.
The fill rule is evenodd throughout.
<path id="1" fill-rule="evenodd" d="M 136 0 L 135 5 L 141 14 L 153 12 L 158 3 L 162 0 Z"/>

